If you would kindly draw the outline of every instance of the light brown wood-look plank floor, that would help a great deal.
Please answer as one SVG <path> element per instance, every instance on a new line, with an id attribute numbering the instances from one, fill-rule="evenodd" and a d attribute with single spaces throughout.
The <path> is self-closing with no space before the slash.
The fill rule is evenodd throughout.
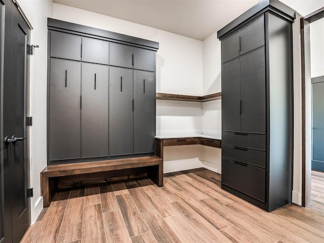
<path id="1" fill-rule="evenodd" d="M 220 188 L 206 169 L 63 190 L 21 242 L 324 242 L 324 177 L 312 206 L 267 213 Z M 321 189 L 321 190 L 319 190 Z"/>

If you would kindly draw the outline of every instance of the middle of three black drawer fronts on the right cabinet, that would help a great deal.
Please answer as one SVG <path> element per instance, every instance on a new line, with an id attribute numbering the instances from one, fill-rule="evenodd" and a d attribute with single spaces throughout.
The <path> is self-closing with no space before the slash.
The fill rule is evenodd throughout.
<path id="1" fill-rule="evenodd" d="M 265 168 L 266 153 L 263 151 L 223 145 L 222 156 L 246 164 Z"/>

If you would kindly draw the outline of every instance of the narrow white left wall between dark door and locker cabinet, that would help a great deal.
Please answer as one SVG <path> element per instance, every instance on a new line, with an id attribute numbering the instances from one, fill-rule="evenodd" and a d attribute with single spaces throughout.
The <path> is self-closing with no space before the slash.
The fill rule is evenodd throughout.
<path id="1" fill-rule="evenodd" d="M 39 45 L 30 58 L 30 186 L 31 223 L 43 209 L 40 173 L 47 165 L 46 156 L 46 104 L 47 104 L 47 17 L 52 16 L 52 0 L 18 0 L 33 30 L 31 44 Z"/>

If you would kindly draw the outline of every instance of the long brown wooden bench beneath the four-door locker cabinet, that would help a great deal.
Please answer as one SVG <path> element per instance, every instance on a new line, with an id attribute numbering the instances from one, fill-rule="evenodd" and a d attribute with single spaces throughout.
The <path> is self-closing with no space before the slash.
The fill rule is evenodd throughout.
<path id="1" fill-rule="evenodd" d="M 147 176 L 157 186 L 163 186 L 163 159 L 157 156 L 47 166 L 41 172 L 41 195 L 43 195 L 43 206 L 45 208 L 50 206 L 53 196 L 58 189 L 59 177 L 86 174 L 86 177 L 88 177 L 94 173 L 101 173 L 102 175 L 102 173 L 109 171 L 120 172 L 136 168 L 145 168 Z M 120 175 L 120 173 L 118 175 Z"/>

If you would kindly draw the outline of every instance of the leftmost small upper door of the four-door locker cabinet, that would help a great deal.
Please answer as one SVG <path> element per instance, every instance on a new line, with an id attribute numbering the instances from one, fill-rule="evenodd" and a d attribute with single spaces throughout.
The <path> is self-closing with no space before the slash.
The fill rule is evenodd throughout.
<path id="1" fill-rule="evenodd" d="M 81 61 L 81 37 L 51 31 L 51 57 Z"/>

